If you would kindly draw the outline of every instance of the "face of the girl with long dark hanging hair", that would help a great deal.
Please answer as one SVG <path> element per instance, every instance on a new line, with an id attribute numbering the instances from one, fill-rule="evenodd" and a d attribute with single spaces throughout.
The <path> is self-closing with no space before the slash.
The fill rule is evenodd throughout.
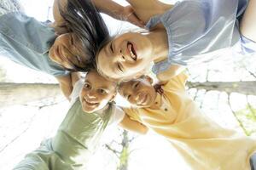
<path id="1" fill-rule="evenodd" d="M 56 37 L 49 48 L 49 58 L 67 69 L 74 69 L 73 65 L 83 68 L 87 56 L 82 52 L 82 43 L 73 33 L 65 33 Z"/>

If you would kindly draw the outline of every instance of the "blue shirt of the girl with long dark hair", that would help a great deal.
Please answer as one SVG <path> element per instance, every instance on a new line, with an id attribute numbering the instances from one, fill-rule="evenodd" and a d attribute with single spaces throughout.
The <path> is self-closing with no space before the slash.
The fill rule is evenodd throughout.
<path id="1" fill-rule="evenodd" d="M 55 77 L 68 74 L 49 59 L 55 41 L 53 28 L 20 12 L 3 14 L 0 23 L 0 55 Z"/>

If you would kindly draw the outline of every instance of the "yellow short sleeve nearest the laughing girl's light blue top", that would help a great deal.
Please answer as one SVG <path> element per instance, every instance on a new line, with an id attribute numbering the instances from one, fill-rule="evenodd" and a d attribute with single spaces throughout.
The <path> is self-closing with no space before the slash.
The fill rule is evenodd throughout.
<path id="1" fill-rule="evenodd" d="M 188 80 L 188 75 L 185 73 L 180 73 L 176 77 L 172 77 L 169 82 L 163 87 L 165 91 L 172 90 L 185 90 L 185 85 Z"/>

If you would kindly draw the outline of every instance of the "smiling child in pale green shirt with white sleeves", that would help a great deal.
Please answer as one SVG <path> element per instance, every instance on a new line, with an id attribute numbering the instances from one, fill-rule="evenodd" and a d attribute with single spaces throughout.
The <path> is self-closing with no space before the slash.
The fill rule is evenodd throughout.
<path id="1" fill-rule="evenodd" d="M 71 108 L 55 137 L 26 155 L 15 169 L 84 169 L 109 124 L 119 124 L 137 133 L 146 128 L 125 116 L 111 103 L 117 84 L 90 71 L 85 81 L 74 85 Z"/>

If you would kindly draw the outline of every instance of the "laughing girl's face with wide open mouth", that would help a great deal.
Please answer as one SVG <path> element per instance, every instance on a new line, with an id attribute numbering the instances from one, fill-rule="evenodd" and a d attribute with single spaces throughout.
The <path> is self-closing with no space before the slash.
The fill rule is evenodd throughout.
<path id="1" fill-rule="evenodd" d="M 152 43 L 140 33 L 125 33 L 108 42 L 97 55 L 97 67 L 115 80 L 142 75 L 151 63 Z"/>

